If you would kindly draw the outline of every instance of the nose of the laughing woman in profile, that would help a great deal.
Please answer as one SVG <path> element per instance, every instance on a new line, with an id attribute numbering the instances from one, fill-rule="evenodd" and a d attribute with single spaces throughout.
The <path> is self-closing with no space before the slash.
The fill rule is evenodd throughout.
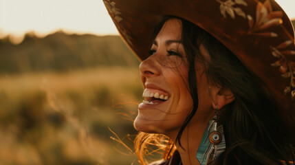
<path id="1" fill-rule="evenodd" d="M 146 78 L 158 76 L 160 74 L 159 66 L 153 56 L 154 55 L 149 56 L 149 58 L 146 58 L 140 63 L 140 73 Z"/>

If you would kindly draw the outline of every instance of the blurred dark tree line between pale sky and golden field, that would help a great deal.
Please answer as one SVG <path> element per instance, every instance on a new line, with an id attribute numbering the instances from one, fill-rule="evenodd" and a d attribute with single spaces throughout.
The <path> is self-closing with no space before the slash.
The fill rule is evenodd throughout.
<path id="1" fill-rule="evenodd" d="M 138 66 L 138 59 L 120 36 L 55 32 L 39 38 L 30 32 L 14 45 L 0 39 L 0 74 L 55 72 L 97 66 Z"/>

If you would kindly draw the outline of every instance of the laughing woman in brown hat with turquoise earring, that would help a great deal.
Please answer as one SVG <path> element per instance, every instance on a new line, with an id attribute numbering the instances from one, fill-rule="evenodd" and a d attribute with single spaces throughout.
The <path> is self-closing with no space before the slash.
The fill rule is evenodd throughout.
<path id="1" fill-rule="evenodd" d="M 153 164 L 292 164 L 294 31 L 274 1 L 105 4 L 142 60 L 142 164 L 146 144 L 164 135 L 165 160 Z"/>

